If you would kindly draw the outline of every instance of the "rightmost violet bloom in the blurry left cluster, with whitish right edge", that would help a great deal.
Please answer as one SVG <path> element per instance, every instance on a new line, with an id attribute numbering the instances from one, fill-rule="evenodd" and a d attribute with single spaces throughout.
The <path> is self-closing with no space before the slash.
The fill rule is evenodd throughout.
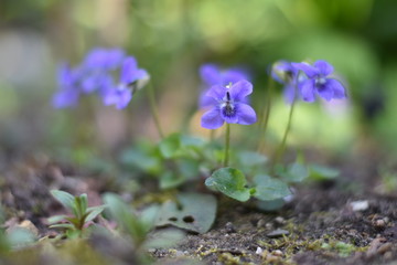
<path id="1" fill-rule="evenodd" d="M 138 68 L 137 60 L 129 56 L 124 60 L 118 85 L 108 85 L 103 99 L 105 105 L 116 105 L 116 108 L 127 107 L 137 89 L 143 87 L 150 76 L 146 70 Z"/>

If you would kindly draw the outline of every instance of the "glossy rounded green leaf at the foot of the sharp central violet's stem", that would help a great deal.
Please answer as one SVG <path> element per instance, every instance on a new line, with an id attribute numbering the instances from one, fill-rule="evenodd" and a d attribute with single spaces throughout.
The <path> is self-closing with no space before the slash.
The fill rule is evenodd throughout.
<path id="1" fill-rule="evenodd" d="M 238 169 L 218 169 L 205 180 L 205 184 L 237 201 L 244 202 L 248 201 L 250 198 L 250 191 L 246 188 L 247 180 L 244 173 Z"/>

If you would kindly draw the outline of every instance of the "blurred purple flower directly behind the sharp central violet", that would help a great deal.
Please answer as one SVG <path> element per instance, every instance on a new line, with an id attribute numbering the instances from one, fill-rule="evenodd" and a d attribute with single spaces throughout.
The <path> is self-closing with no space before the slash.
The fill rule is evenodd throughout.
<path id="1" fill-rule="evenodd" d="M 200 96 L 198 105 L 201 107 L 210 107 L 214 105 L 214 98 L 206 96 L 208 89 L 214 85 L 221 85 L 223 87 L 235 84 L 238 81 L 247 80 L 249 76 L 247 73 L 239 68 L 221 70 L 215 64 L 204 64 L 200 67 L 200 76 L 204 82 L 205 89 Z"/>

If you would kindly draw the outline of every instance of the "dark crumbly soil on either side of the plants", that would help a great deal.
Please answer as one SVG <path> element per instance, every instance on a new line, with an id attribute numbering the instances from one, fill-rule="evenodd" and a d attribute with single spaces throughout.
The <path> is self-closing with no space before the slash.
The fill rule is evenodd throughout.
<path id="1" fill-rule="evenodd" d="M 186 258 L 204 264 L 396 262 L 397 197 L 378 192 L 382 182 L 376 160 L 360 157 L 342 167 L 337 181 L 297 187 L 293 200 L 278 212 L 260 212 L 255 202 L 222 198 L 210 232 L 189 234 L 178 247 L 150 250 L 150 254 L 159 264 L 192 264 Z M 86 192 L 92 205 L 100 204 L 104 191 L 117 192 L 111 178 L 84 177 L 46 157 L 10 165 L 2 174 L 0 195 L 7 225 L 29 220 L 40 237 L 53 235 L 45 219 L 63 211 L 50 189 Z M 367 201 L 368 206 L 354 209 L 356 201 Z"/>

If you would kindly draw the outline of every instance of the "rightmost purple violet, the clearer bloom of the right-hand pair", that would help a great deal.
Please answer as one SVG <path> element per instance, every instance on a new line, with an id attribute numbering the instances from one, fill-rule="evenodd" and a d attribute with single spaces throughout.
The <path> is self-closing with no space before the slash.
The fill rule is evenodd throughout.
<path id="1" fill-rule="evenodd" d="M 328 77 L 334 72 L 333 66 L 326 61 L 315 61 L 313 65 L 308 63 L 291 63 L 294 68 L 302 71 L 308 80 L 299 82 L 301 97 L 305 102 L 314 102 L 315 94 L 325 100 L 346 97 L 346 92 L 341 82 Z"/>

